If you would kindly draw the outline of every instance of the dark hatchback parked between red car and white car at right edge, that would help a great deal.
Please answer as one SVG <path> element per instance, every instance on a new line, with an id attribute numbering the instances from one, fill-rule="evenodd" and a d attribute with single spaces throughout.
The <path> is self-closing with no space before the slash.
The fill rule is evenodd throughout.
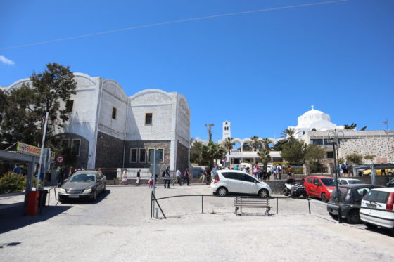
<path id="1" fill-rule="evenodd" d="M 381 188 L 380 185 L 368 185 L 368 184 L 350 184 L 340 185 L 339 190 L 339 201 L 336 198 L 336 189 L 331 193 L 331 198 L 327 204 L 327 211 L 331 217 L 338 217 L 338 204 L 345 206 L 341 207 L 341 216 L 346 218 L 348 223 L 357 224 L 360 223 L 360 209 L 357 207 L 350 207 L 350 204 L 357 206 L 361 205 L 361 200 L 372 188 Z"/>

